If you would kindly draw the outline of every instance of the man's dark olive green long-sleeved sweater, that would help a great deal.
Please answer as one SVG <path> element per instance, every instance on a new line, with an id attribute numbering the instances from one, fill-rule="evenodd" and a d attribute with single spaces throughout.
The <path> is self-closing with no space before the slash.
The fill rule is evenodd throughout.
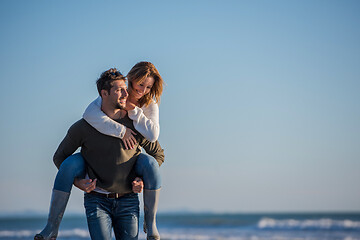
<path id="1" fill-rule="evenodd" d="M 131 182 L 135 178 L 133 166 L 141 153 L 140 147 L 153 156 L 159 165 L 164 162 L 164 150 L 157 141 L 150 142 L 142 137 L 127 115 L 116 121 L 137 133 L 134 149 L 126 150 L 121 139 L 104 135 L 81 119 L 70 127 L 56 150 L 56 167 L 59 168 L 67 157 L 81 147 L 86 171 L 91 179 L 97 179 L 98 187 L 120 194 L 132 192 Z"/>

